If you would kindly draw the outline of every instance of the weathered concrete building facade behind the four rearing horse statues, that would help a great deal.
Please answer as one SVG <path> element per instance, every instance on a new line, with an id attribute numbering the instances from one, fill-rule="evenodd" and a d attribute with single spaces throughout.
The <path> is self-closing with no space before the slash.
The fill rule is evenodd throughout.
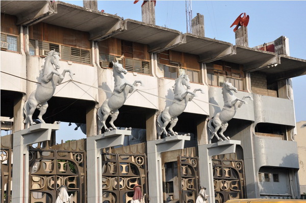
<path id="1" fill-rule="evenodd" d="M 142 9 L 152 10 L 153 4 Z M 277 39 L 283 43 L 275 40 L 270 52 L 266 45 L 250 48 L 207 38 L 203 25 L 196 24 L 203 20 L 194 20 L 197 33 L 182 34 L 156 26 L 155 15 L 140 22 L 94 8 L 60 1 L 1 2 L 1 118 L 13 122 L 13 134 L 1 140 L 7 155 L 1 162 L 7 180 L 2 202 L 54 202 L 61 185 L 75 202 L 128 202 L 136 183 L 146 202 L 195 202 L 200 186 L 207 188 L 210 202 L 220 203 L 300 195 L 291 78 L 305 72 L 306 60 L 288 55 L 285 37 Z M 71 69 L 74 76 L 66 75 L 57 86 L 45 121 L 86 124 L 86 140 L 56 145 L 57 124 L 23 124 L 24 103 L 54 49 L 60 52 L 60 70 Z M 115 124 L 122 129 L 108 135 L 97 130 L 96 114 L 112 95 L 112 61 L 121 55 L 125 78 L 143 86 L 119 109 Z M 174 79 L 182 73 L 189 76 L 191 90 L 203 94 L 197 93 L 179 116 L 179 135 L 157 139 L 157 116 L 173 101 Z M 253 100 L 229 121 L 231 140 L 218 142 L 210 139 L 207 124 L 224 106 L 225 80 L 239 90 L 238 98 Z M 123 130 L 128 127 L 132 131 Z M 41 139 L 28 139 L 34 133 Z"/>

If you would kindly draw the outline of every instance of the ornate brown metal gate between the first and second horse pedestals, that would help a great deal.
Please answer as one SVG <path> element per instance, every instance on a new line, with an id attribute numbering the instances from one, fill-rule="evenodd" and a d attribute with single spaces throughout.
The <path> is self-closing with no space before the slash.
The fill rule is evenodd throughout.
<path id="1" fill-rule="evenodd" d="M 45 145 L 45 146 L 42 146 Z M 58 188 L 67 187 L 75 203 L 86 202 L 85 139 L 49 146 L 29 146 L 30 202 L 55 202 Z"/>

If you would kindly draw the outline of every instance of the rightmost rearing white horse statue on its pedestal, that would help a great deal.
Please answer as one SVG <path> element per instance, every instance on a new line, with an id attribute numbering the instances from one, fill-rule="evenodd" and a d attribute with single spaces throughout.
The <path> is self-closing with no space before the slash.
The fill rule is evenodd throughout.
<path id="1" fill-rule="evenodd" d="M 243 104 L 247 104 L 247 102 L 244 100 L 245 98 L 253 100 L 251 96 L 244 96 L 242 99 L 239 99 L 233 94 L 233 91 L 237 92 L 237 88 L 234 87 L 232 83 L 225 82 L 223 84 L 222 87 L 222 94 L 224 100 L 223 109 L 222 111 L 218 112 L 208 122 L 208 128 L 211 132 L 211 139 L 213 139 L 213 137 L 216 136 L 218 141 L 229 140 L 230 137 L 225 137 L 223 134 L 228 126 L 227 122 L 230 121 L 235 116 L 237 108 L 240 108 Z M 215 128 L 212 126 L 212 123 L 214 124 Z M 219 129 L 221 129 L 219 133 L 221 138 L 217 134 Z"/>

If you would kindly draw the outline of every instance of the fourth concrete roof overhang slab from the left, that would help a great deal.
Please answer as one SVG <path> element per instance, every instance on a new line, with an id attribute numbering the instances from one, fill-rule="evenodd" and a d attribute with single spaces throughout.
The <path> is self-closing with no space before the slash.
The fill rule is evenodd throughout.
<path id="1" fill-rule="evenodd" d="M 186 43 L 171 48 L 177 52 L 198 55 L 199 62 L 209 63 L 234 54 L 233 44 L 190 33 L 184 34 Z"/>

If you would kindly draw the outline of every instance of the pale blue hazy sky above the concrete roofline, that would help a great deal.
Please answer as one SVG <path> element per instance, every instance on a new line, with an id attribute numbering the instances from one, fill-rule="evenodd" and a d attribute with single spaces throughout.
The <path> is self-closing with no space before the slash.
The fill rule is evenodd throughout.
<path id="1" fill-rule="evenodd" d="M 83 6 L 83 1 L 64 1 Z M 98 10 L 116 14 L 124 19 L 141 21 L 141 4 L 134 1 L 98 1 Z M 185 1 L 157 1 L 156 24 L 186 33 Z M 289 38 L 290 56 L 306 59 L 306 1 L 192 1 L 192 17 L 204 15 L 205 37 L 235 44 L 230 28 L 243 12 L 250 16 L 249 47 L 274 41 L 280 36 Z M 306 75 L 293 79 L 296 121 L 306 120 Z M 120 116 L 120 115 L 119 115 Z M 75 124 L 69 126 L 73 130 Z M 62 130 L 66 129 L 64 124 Z M 81 130 L 80 138 L 85 138 Z M 67 132 L 66 132 L 67 133 Z M 65 133 L 65 134 L 66 134 Z M 75 136 L 76 132 L 73 132 Z M 80 139 L 75 137 L 74 139 Z M 63 138 L 62 138 L 63 139 Z"/>

